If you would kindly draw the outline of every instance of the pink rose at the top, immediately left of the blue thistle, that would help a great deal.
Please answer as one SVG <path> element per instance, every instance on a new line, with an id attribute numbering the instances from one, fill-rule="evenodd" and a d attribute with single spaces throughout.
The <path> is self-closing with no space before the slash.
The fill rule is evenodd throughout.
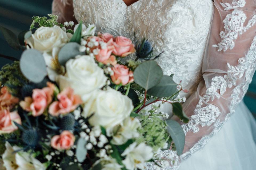
<path id="1" fill-rule="evenodd" d="M 125 57 L 135 52 L 134 44 L 132 41 L 123 36 L 116 37 L 114 39 L 113 45 L 115 47 L 113 54 L 117 56 Z"/>

